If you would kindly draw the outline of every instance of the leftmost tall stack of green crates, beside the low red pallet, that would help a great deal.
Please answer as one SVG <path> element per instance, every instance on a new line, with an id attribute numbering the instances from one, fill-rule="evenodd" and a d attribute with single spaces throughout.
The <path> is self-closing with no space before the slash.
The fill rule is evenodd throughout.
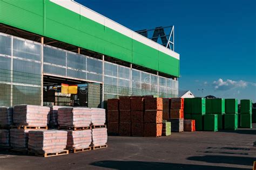
<path id="1" fill-rule="evenodd" d="M 196 121 L 196 130 L 204 129 L 204 115 L 205 115 L 205 98 L 195 97 L 191 98 L 191 119 Z M 184 104 L 185 107 L 185 104 Z"/>

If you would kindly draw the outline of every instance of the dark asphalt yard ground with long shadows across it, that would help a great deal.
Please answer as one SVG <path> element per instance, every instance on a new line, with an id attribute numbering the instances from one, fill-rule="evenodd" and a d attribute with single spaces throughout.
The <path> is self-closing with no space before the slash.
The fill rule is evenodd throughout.
<path id="1" fill-rule="evenodd" d="M 109 136 L 107 148 L 56 157 L 0 152 L 0 169 L 252 169 L 253 129 L 181 132 L 168 137 Z"/>

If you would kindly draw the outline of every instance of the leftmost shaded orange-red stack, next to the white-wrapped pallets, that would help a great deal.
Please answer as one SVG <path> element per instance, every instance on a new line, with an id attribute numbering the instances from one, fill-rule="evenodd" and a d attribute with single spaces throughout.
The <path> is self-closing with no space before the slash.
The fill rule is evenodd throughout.
<path id="1" fill-rule="evenodd" d="M 111 135 L 119 134 L 119 99 L 107 100 L 107 132 Z"/>

